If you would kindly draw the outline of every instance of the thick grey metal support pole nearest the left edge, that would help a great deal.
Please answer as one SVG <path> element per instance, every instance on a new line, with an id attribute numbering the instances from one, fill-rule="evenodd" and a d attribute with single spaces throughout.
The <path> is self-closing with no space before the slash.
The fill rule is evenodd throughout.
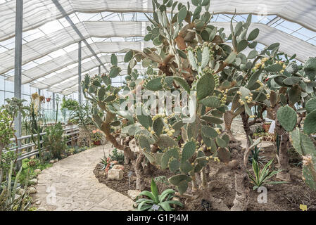
<path id="1" fill-rule="evenodd" d="M 15 11 L 15 66 L 14 66 L 14 96 L 22 98 L 22 32 L 23 32 L 23 0 L 16 0 Z M 22 136 L 22 120 L 19 113 L 14 119 L 15 135 L 19 138 Z M 18 141 L 18 148 L 21 146 L 21 141 Z M 21 162 L 18 162 L 18 168 L 21 167 Z"/>

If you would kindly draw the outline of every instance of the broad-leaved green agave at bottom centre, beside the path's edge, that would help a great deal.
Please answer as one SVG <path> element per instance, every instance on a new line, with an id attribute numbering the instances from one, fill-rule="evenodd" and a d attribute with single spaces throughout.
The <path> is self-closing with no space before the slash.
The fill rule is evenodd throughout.
<path id="1" fill-rule="evenodd" d="M 142 191 L 139 196 L 146 196 L 148 198 L 140 198 L 136 200 L 137 203 L 137 210 L 138 211 L 153 211 L 153 205 L 158 205 L 158 211 L 173 211 L 175 210 L 170 205 L 179 205 L 183 207 L 183 204 L 179 201 L 172 200 L 175 197 L 175 191 L 172 189 L 167 189 L 159 195 L 158 188 L 153 181 L 151 180 L 151 192 L 149 191 Z"/>

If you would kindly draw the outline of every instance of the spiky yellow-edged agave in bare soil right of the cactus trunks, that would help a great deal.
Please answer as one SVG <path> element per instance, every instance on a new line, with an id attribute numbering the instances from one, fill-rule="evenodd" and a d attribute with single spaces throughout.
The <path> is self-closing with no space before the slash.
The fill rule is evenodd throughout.
<path id="1" fill-rule="evenodd" d="M 260 186 L 264 186 L 267 184 L 284 184 L 287 183 L 286 181 L 269 181 L 272 176 L 277 175 L 281 170 L 274 170 L 270 171 L 269 167 L 272 164 L 274 159 L 267 162 L 267 164 L 263 167 L 263 169 L 260 170 L 260 167 L 258 165 L 258 162 L 253 160 L 253 173 L 254 176 L 251 174 L 251 172 L 248 172 L 248 177 L 251 179 L 253 183 L 253 190 L 259 188 Z"/>

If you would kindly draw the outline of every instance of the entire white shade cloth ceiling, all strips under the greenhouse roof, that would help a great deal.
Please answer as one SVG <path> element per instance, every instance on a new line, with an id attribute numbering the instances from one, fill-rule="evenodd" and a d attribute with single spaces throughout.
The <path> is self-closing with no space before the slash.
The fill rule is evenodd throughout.
<path id="1" fill-rule="evenodd" d="M 151 0 L 60 0 L 59 4 L 63 7 L 67 15 L 75 12 L 81 13 L 99 13 L 108 12 L 146 12 L 153 11 Z M 180 0 L 183 4 L 187 4 L 187 0 Z M 193 8 L 194 6 L 191 5 Z M 44 25 L 51 20 L 63 18 L 61 12 L 56 8 L 53 1 L 43 0 L 24 0 L 23 14 L 23 31 L 32 30 L 36 27 Z M 236 10 L 237 14 L 254 13 L 258 15 L 277 15 L 280 18 L 289 20 L 293 23 L 298 23 L 309 30 L 316 32 L 316 1 L 310 0 L 211 0 L 210 12 L 215 14 L 227 13 L 232 14 Z M 0 41 L 10 39 L 15 34 L 15 0 L 7 1 L 0 4 Z M 84 39 L 89 37 L 144 37 L 147 33 L 147 22 L 118 22 L 118 21 L 85 21 L 77 23 L 76 27 L 82 33 Z M 213 23 L 217 27 L 224 27 L 227 34 L 230 33 L 229 23 Z M 258 42 L 264 45 L 270 45 L 274 42 L 279 42 L 280 51 L 289 54 L 297 54 L 297 59 L 301 62 L 308 59 L 310 56 L 316 56 L 316 46 L 309 44 L 306 41 L 293 37 L 291 34 L 286 34 L 276 28 L 270 27 L 263 23 L 253 23 L 250 30 L 255 28 L 260 29 Z M 33 41 L 23 44 L 23 65 L 32 62 L 38 58 L 63 49 L 70 44 L 82 41 L 77 35 L 73 27 L 66 27 L 57 32 L 47 34 Z M 141 44 L 139 44 L 141 43 Z M 91 44 L 96 54 L 99 53 L 115 53 L 122 49 L 137 49 L 141 50 L 148 46 L 152 46 L 149 42 L 95 42 Z M 82 59 L 93 56 L 87 46 L 82 48 Z M 103 56 L 102 56 L 103 57 Z M 103 63 L 108 63 L 109 58 L 103 57 Z M 0 75 L 14 68 L 14 49 L 0 53 Z M 49 60 L 30 70 L 23 72 L 22 82 L 27 84 L 36 79 L 50 75 L 52 72 L 58 72 L 68 65 L 77 63 L 77 50 L 70 51 L 63 56 Z M 96 66 L 99 62 L 96 61 Z M 82 71 L 88 71 L 92 65 L 84 63 L 86 68 Z M 58 79 L 46 78 L 44 81 L 37 82 L 33 86 L 42 89 L 56 84 L 56 81 L 61 78 L 63 80 L 75 73 L 77 68 L 59 72 L 56 76 Z M 89 69 L 91 70 L 91 69 Z M 97 71 L 97 70 L 96 70 Z M 66 72 L 68 72 L 67 75 Z M 55 77 L 55 75 L 54 75 Z M 13 77 L 8 78 L 13 80 Z M 73 89 L 73 88 L 72 88 Z M 59 89 L 58 92 L 60 92 Z M 63 90 L 65 91 L 65 90 Z M 69 90 L 66 90 L 69 91 Z"/>

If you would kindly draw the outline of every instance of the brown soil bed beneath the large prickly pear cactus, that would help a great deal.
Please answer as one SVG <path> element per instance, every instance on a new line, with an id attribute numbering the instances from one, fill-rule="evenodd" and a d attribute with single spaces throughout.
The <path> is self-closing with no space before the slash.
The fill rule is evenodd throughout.
<path id="1" fill-rule="evenodd" d="M 275 150 L 274 147 L 265 148 L 261 154 L 265 156 L 267 160 L 274 158 Z M 275 160 L 274 162 L 277 162 Z M 275 164 L 274 164 L 275 165 Z M 222 163 L 210 162 L 209 163 L 210 174 L 212 174 L 213 179 L 211 180 L 211 191 L 210 193 L 214 198 L 222 200 L 227 207 L 232 207 L 234 197 L 235 197 L 235 189 L 234 189 L 234 172 L 227 168 Z M 125 165 L 124 179 L 121 181 L 109 181 L 105 172 L 101 171 L 101 165 L 96 165 L 94 169 L 94 174 L 96 178 L 102 184 L 106 184 L 109 188 L 112 188 L 115 191 L 122 193 L 123 195 L 127 195 L 128 190 L 136 189 L 136 176 L 134 173 L 134 168 L 132 165 Z M 248 164 L 248 169 L 251 170 L 251 164 Z M 129 179 L 128 172 L 132 171 L 133 174 L 130 177 L 130 187 L 129 187 Z M 253 191 L 253 185 L 248 183 L 248 188 L 250 190 L 249 193 L 249 203 L 248 203 L 248 211 L 301 211 L 300 205 L 307 205 L 308 211 L 316 211 L 316 191 L 310 190 L 308 186 L 306 186 L 301 178 L 301 167 L 296 167 L 291 165 L 290 174 L 291 174 L 291 183 L 289 184 L 274 184 L 265 186 L 267 188 L 267 203 L 260 204 L 258 203 L 258 191 Z M 172 176 L 172 173 L 169 170 L 159 170 L 154 169 L 152 174 L 145 174 L 145 189 L 146 191 L 150 191 L 151 179 L 165 176 L 166 179 Z M 275 180 L 272 179 L 272 180 Z M 165 184 L 163 182 L 157 182 L 157 186 L 159 192 L 161 193 L 166 188 L 175 188 L 170 184 Z M 191 190 L 191 186 L 189 186 L 188 190 Z M 203 198 L 203 197 L 201 197 Z M 201 198 L 197 200 L 187 201 L 185 198 L 181 198 L 182 203 L 185 204 L 185 207 L 178 208 L 177 210 L 185 210 L 185 211 L 205 211 L 205 208 L 201 206 Z M 206 197 L 207 198 L 207 197 Z M 212 205 L 210 206 L 210 210 L 214 210 Z"/>

